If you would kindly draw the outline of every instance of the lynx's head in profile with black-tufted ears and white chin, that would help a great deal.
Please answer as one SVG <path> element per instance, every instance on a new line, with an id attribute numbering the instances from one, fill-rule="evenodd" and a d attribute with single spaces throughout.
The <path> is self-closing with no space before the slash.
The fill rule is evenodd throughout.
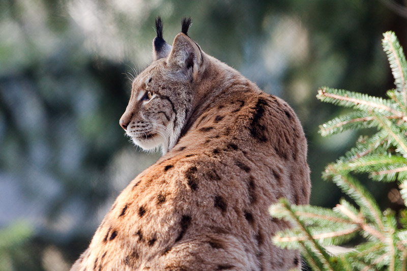
<path id="1" fill-rule="evenodd" d="M 190 26 L 191 18 L 184 18 L 182 32 L 171 46 L 163 39 L 158 17 L 153 63 L 132 83 L 130 101 L 119 124 L 144 150 L 161 146 L 165 154 L 177 143 L 192 113 L 195 89 L 205 65 L 203 52 L 187 35 Z"/>

